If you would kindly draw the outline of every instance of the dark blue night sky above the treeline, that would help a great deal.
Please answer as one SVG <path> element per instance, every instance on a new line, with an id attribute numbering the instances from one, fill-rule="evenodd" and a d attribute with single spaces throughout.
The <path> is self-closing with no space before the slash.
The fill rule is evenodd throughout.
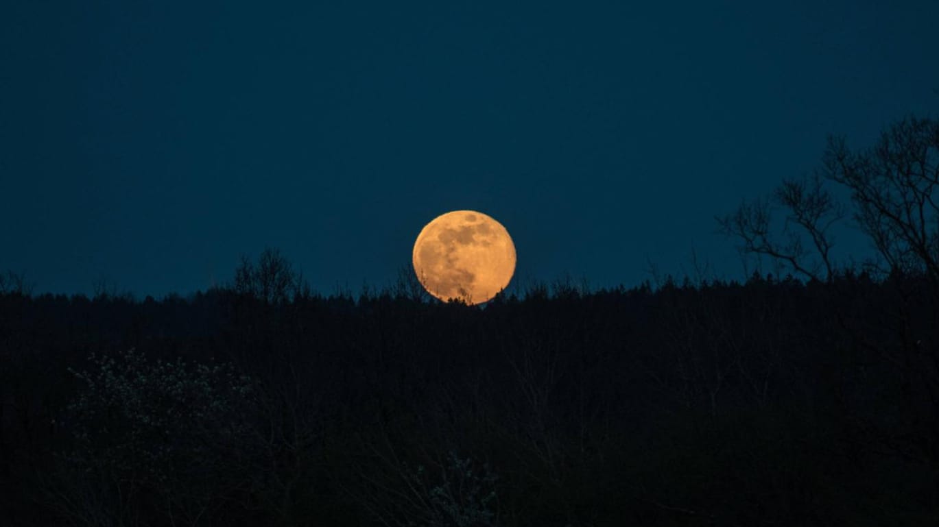
<path id="1" fill-rule="evenodd" d="M 185 294 L 274 247 L 356 293 L 476 209 L 523 286 L 734 278 L 715 215 L 939 109 L 935 1 L 509 4 L 3 2 L 0 270 Z"/>

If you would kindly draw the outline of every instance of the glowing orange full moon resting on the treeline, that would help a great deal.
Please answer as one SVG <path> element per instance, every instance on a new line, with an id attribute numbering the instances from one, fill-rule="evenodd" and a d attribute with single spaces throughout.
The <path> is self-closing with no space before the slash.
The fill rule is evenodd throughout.
<path id="1" fill-rule="evenodd" d="M 516 246 L 502 224 L 481 212 L 455 210 L 434 218 L 414 242 L 414 272 L 440 300 L 482 304 L 509 285 Z"/>

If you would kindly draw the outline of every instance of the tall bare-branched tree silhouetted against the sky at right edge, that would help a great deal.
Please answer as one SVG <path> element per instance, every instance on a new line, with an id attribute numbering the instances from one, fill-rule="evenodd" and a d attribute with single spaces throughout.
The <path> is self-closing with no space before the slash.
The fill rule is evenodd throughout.
<path id="1" fill-rule="evenodd" d="M 743 240 L 745 252 L 827 281 L 836 270 L 830 228 L 846 210 L 825 182 L 850 192 L 854 220 L 879 256 L 871 267 L 925 275 L 939 296 L 939 121 L 903 119 L 866 150 L 853 151 L 843 137 L 830 137 L 822 170 L 784 181 L 772 198 L 742 203 L 717 222 L 723 233 Z M 773 205 L 788 213 L 780 235 L 774 233 Z"/>

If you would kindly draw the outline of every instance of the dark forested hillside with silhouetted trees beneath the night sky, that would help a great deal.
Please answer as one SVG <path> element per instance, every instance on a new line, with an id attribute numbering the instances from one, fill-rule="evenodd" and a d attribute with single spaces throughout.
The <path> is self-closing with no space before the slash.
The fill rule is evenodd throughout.
<path id="1" fill-rule="evenodd" d="M 817 173 L 717 218 L 783 269 L 743 281 L 559 279 L 478 307 L 408 269 L 318 294 L 273 249 L 162 299 L 5 275 L 0 522 L 936 524 L 937 159 L 929 119 L 831 139 Z M 849 216 L 863 264 L 832 253 Z"/>

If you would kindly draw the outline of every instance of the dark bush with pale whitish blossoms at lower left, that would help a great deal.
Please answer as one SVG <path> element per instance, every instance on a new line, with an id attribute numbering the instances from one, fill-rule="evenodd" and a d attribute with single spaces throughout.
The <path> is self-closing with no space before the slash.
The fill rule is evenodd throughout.
<path id="1" fill-rule="evenodd" d="M 60 510 L 75 519 L 103 508 L 108 523 L 126 524 L 156 507 L 171 523 L 197 524 L 247 485 L 249 463 L 239 460 L 252 433 L 251 379 L 229 365 L 150 362 L 133 349 L 89 360 L 91 371 L 69 370 L 83 385 L 62 417 L 69 448 L 59 459 L 71 476 L 55 492 L 68 505 Z M 107 499 L 88 500 L 91 487 Z"/>

